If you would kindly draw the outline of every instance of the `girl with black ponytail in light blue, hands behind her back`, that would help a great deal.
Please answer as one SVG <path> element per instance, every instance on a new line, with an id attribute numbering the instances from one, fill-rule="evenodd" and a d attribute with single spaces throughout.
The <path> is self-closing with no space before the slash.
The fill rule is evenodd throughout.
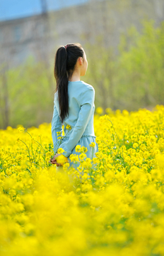
<path id="1" fill-rule="evenodd" d="M 57 132 L 62 132 L 64 124 L 64 138 L 59 148 L 64 149 L 64 156 L 67 157 L 70 166 L 73 162 L 69 159 L 71 154 L 79 155 L 76 152 L 76 145 L 87 147 L 85 153 L 88 158 L 95 157 L 98 152 L 98 144 L 95 142 L 93 127 L 93 115 L 95 110 L 95 90 L 92 85 L 81 81 L 81 76 L 86 74 L 88 61 L 86 53 L 78 43 L 71 43 L 61 46 L 56 53 L 54 63 L 54 77 L 57 82 L 54 93 L 54 113 L 52 117 L 52 140 L 54 152 L 57 150 Z M 66 127 L 71 129 L 66 129 Z M 94 147 L 90 144 L 93 143 Z M 50 159 L 52 164 L 57 163 L 57 156 Z M 79 165 L 79 164 L 78 164 Z"/>

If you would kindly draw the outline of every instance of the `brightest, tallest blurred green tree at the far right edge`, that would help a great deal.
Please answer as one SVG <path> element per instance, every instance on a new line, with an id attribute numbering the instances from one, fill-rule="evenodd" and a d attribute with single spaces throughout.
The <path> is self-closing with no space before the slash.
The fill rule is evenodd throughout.
<path id="1" fill-rule="evenodd" d="M 122 107 L 136 110 L 163 105 L 164 23 L 155 28 L 153 21 L 143 21 L 141 34 L 132 26 L 121 37 L 119 51 L 115 86 Z"/>

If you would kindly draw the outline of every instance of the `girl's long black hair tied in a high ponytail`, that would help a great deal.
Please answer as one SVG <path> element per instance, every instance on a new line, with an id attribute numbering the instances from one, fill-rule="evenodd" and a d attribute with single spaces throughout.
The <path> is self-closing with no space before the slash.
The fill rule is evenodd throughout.
<path id="1" fill-rule="evenodd" d="M 54 60 L 54 78 L 57 82 L 55 92 L 58 92 L 59 116 L 61 123 L 69 114 L 68 82 L 74 72 L 78 57 L 83 58 L 83 48 L 79 43 L 70 43 L 57 50 Z"/>

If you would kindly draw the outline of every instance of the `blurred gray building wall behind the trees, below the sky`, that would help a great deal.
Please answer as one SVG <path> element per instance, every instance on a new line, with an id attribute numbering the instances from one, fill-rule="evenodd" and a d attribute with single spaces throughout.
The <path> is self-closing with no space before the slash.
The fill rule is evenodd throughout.
<path id="1" fill-rule="evenodd" d="M 49 13 L 0 22 L 0 62 L 8 68 L 21 65 L 28 55 L 36 61 L 54 62 L 57 47 L 66 43 L 94 43 L 102 35 L 105 45 L 117 53 L 119 36 L 141 20 L 153 19 L 156 26 L 164 19 L 163 0 L 89 1 Z"/>

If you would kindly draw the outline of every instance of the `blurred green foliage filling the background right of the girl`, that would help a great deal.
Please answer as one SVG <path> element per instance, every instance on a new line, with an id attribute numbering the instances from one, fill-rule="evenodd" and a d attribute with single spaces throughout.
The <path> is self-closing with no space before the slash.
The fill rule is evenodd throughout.
<path id="1" fill-rule="evenodd" d="M 88 71 L 85 80 L 95 87 L 95 102 L 103 110 L 129 111 L 164 104 L 164 22 L 142 21 L 120 36 L 119 54 L 105 46 L 105 36 L 87 43 Z"/>

